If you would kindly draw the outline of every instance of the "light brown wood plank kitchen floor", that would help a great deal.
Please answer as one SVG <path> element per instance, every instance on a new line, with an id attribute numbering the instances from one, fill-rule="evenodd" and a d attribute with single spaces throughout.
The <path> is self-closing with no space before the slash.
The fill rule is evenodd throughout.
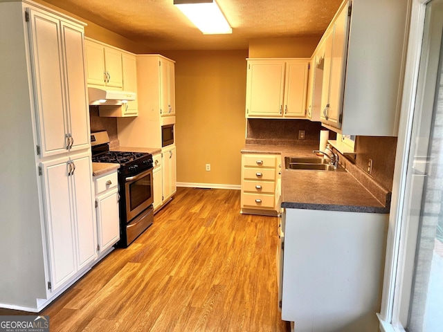
<path id="1" fill-rule="evenodd" d="M 287 331 L 278 219 L 239 214 L 238 190 L 178 188 L 154 224 L 41 315 L 55 331 Z M 0 315 L 23 314 L 0 309 Z"/>

